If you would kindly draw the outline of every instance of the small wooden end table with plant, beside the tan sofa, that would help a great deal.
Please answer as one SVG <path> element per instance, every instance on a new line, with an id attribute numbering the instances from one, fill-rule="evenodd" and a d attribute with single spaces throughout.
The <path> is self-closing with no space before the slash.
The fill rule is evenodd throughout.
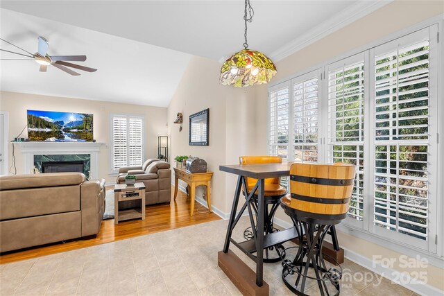
<path id="1" fill-rule="evenodd" d="M 140 208 L 119 210 L 119 202 L 126 200 L 140 200 Z M 136 218 L 145 220 L 145 184 L 137 182 L 134 185 L 114 185 L 114 225 Z"/>

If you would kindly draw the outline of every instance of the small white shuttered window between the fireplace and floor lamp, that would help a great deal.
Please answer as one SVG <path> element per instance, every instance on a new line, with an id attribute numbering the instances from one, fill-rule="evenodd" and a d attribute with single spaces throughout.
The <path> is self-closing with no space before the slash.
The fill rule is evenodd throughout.
<path id="1" fill-rule="evenodd" d="M 143 126 L 141 116 L 112 115 L 112 171 L 122 166 L 142 166 Z"/>

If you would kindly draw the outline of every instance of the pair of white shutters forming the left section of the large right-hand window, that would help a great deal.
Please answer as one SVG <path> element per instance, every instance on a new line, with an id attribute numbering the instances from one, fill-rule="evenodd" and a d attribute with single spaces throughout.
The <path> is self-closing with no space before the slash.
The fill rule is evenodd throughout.
<path id="1" fill-rule="evenodd" d="M 291 82 L 284 82 L 269 90 L 270 155 L 279 155 L 284 161 L 289 162 L 294 160 L 318 162 L 320 159 L 319 80 L 321 80 L 320 69 L 305 73 Z M 288 186 L 287 177 L 281 178 L 281 185 Z"/>

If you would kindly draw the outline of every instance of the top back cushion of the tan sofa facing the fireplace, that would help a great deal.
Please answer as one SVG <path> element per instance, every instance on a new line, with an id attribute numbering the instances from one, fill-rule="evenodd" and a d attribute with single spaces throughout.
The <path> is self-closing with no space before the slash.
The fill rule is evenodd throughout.
<path id="1" fill-rule="evenodd" d="M 0 177 L 0 190 L 78 185 L 85 181 L 83 173 L 44 173 Z"/>

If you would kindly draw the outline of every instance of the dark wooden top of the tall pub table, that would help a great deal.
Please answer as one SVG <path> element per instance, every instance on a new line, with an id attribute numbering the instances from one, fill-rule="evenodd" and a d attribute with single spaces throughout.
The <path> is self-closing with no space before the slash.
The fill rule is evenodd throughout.
<path id="1" fill-rule="evenodd" d="M 282 164 L 232 164 L 219 166 L 219 171 L 255 179 L 265 179 L 290 175 L 291 164 L 293 162 L 282 162 Z"/>

